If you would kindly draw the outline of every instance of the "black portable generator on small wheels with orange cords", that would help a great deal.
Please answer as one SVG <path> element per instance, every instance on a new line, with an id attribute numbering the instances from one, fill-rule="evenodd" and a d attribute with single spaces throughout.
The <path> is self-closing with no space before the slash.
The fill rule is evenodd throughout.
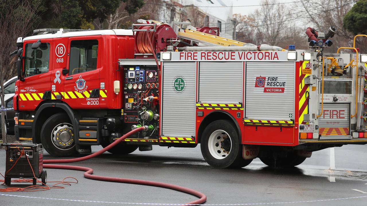
<path id="1" fill-rule="evenodd" d="M 43 170 L 42 144 L 4 143 L 1 146 L 5 146 L 6 151 L 6 185 L 10 186 L 12 178 L 33 179 L 33 185 L 37 184 L 36 178 L 41 178 L 42 183 L 47 183 L 47 172 Z"/>

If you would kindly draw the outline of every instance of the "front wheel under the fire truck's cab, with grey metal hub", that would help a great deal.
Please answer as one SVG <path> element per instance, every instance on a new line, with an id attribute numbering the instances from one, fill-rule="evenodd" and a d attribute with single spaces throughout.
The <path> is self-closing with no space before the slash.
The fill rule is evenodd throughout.
<path id="1" fill-rule="evenodd" d="M 53 157 L 69 157 L 78 154 L 74 138 L 73 125 L 65 113 L 52 115 L 41 129 L 41 143 Z"/>

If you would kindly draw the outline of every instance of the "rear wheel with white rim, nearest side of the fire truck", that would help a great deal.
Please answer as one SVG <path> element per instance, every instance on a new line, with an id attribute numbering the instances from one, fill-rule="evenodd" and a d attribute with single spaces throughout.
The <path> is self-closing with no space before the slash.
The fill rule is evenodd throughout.
<path id="1" fill-rule="evenodd" d="M 252 161 L 243 159 L 237 128 L 229 120 L 210 123 L 203 131 L 200 147 L 205 161 L 214 168 L 243 168 Z"/>

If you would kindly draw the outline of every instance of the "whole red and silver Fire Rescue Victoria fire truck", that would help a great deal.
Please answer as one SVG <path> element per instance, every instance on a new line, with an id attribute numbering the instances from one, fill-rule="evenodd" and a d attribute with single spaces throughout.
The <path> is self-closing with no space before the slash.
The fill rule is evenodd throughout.
<path id="1" fill-rule="evenodd" d="M 200 143 L 217 168 L 257 157 L 295 166 L 312 151 L 367 143 L 367 55 L 324 52 L 335 28 L 309 28 L 309 50 L 286 50 L 189 22 L 138 22 L 19 37 L 17 138 L 62 157 L 144 127 L 109 152 Z"/>

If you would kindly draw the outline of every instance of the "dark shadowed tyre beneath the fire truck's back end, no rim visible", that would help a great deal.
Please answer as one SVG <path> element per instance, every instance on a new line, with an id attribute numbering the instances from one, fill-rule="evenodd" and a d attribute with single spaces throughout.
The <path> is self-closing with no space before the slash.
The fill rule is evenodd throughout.
<path id="1" fill-rule="evenodd" d="M 265 157 L 260 157 L 262 163 L 272 168 L 291 168 L 300 165 L 305 159 L 306 157 L 298 156 L 296 151 L 288 152 L 287 157 L 275 157 L 273 152 L 267 152 Z"/>

